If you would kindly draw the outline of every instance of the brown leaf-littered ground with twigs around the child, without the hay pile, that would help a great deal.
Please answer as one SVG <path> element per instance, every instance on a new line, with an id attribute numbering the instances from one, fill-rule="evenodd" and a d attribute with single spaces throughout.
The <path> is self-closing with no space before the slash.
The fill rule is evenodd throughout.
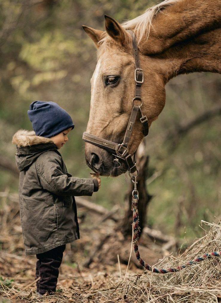
<path id="1" fill-rule="evenodd" d="M 25 256 L 24 253 L 18 203 L 5 199 L 2 205 L 0 302 L 114 302 L 110 301 L 111 293 L 116 287 L 119 289 L 124 285 L 131 248 L 130 238 L 124 241 L 120 232 L 114 232 L 114 221 L 108 219 L 99 223 L 100 216 L 79 208 L 81 239 L 66 245 L 56 294 L 39 297 L 35 293 L 36 258 Z M 103 239 L 105 243 L 102 243 Z M 143 244 L 149 243 L 148 261 L 151 264 L 157 262 L 162 256 L 160 246 L 147 236 L 142 241 Z M 99 243 L 102 249 L 96 251 Z M 137 267 L 136 262 L 132 251 L 126 280 L 129 278 L 134 281 L 143 275 L 143 270 Z M 86 263 L 88 268 L 85 267 Z M 115 301 L 125 301 L 126 298 L 127 294 L 123 291 L 119 300 L 115 298 Z"/>

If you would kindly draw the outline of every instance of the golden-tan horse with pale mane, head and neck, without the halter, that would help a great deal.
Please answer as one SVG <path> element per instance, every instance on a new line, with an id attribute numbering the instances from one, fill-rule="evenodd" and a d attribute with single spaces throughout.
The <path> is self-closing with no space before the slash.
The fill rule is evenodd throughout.
<path id="1" fill-rule="evenodd" d="M 165 85 L 190 72 L 221 72 L 220 0 L 166 0 L 137 18 L 119 24 L 105 16 L 106 32 L 83 25 L 97 47 L 97 65 L 91 78 L 91 107 L 87 133 L 121 143 L 134 98 L 134 54 L 131 30 L 137 39 L 144 73 L 142 112 L 149 127 L 163 110 Z M 138 102 L 139 103 L 139 102 Z M 134 124 L 129 151 L 133 155 L 142 138 L 140 117 Z M 87 165 L 101 175 L 127 171 L 123 161 L 114 166 L 114 155 L 85 143 Z"/>

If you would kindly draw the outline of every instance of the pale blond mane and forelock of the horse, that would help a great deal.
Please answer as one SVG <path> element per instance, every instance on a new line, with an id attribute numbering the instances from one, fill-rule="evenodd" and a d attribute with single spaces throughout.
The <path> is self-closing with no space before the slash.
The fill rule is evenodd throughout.
<path id="1" fill-rule="evenodd" d="M 147 8 L 147 10 L 142 15 L 121 23 L 121 26 L 126 30 L 131 29 L 137 37 L 137 44 L 139 44 L 143 38 L 148 39 L 153 18 L 159 12 L 162 12 L 162 10 L 167 6 L 171 6 L 177 2 L 180 2 L 180 0 L 164 0 L 157 5 Z M 109 36 L 106 34 L 106 32 L 104 32 L 104 36 L 98 42 L 98 44 L 101 45 L 103 42 L 105 42 L 105 40 L 107 40 L 108 37 Z"/>

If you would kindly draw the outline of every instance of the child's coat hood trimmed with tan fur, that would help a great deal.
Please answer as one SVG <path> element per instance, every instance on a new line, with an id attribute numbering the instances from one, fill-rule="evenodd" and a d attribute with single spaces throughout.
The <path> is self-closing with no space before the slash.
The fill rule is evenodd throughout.
<path id="1" fill-rule="evenodd" d="M 36 136 L 34 131 L 20 129 L 12 137 L 12 143 L 17 146 L 15 161 L 19 171 L 27 170 L 45 151 L 54 150 L 59 153 L 57 145 L 50 138 Z"/>

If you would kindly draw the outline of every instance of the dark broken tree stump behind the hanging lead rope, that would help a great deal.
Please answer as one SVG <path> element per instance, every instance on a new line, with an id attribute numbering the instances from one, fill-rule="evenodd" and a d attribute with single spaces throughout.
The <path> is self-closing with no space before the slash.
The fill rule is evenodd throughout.
<path id="1" fill-rule="evenodd" d="M 146 223 L 147 218 L 147 205 L 152 198 L 147 192 L 146 188 L 146 179 L 148 172 L 148 162 L 149 157 L 145 155 L 145 144 L 141 143 L 138 151 L 137 151 L 137 169 L 139 171 L 139 175 L 137 177 L 137 190 L 139 192 L 139 201 L 138 201 L 138 213 L 139 213 L 139 227 L 140 234 L 142 233 L 143 227 Z M 123 233 L 126 238 L 128 235 L 131 235 L 132 232 L 132 211 L 131 211 L 131 201 L 132 201 L 132 191 L 134 189 L 134 185 L 130 184 L 130 188 L 125 195 L 125 201 L 128 205 L 127 210 L 125 212 L 123 220 L 120 222 L 119 229 Z"/>

